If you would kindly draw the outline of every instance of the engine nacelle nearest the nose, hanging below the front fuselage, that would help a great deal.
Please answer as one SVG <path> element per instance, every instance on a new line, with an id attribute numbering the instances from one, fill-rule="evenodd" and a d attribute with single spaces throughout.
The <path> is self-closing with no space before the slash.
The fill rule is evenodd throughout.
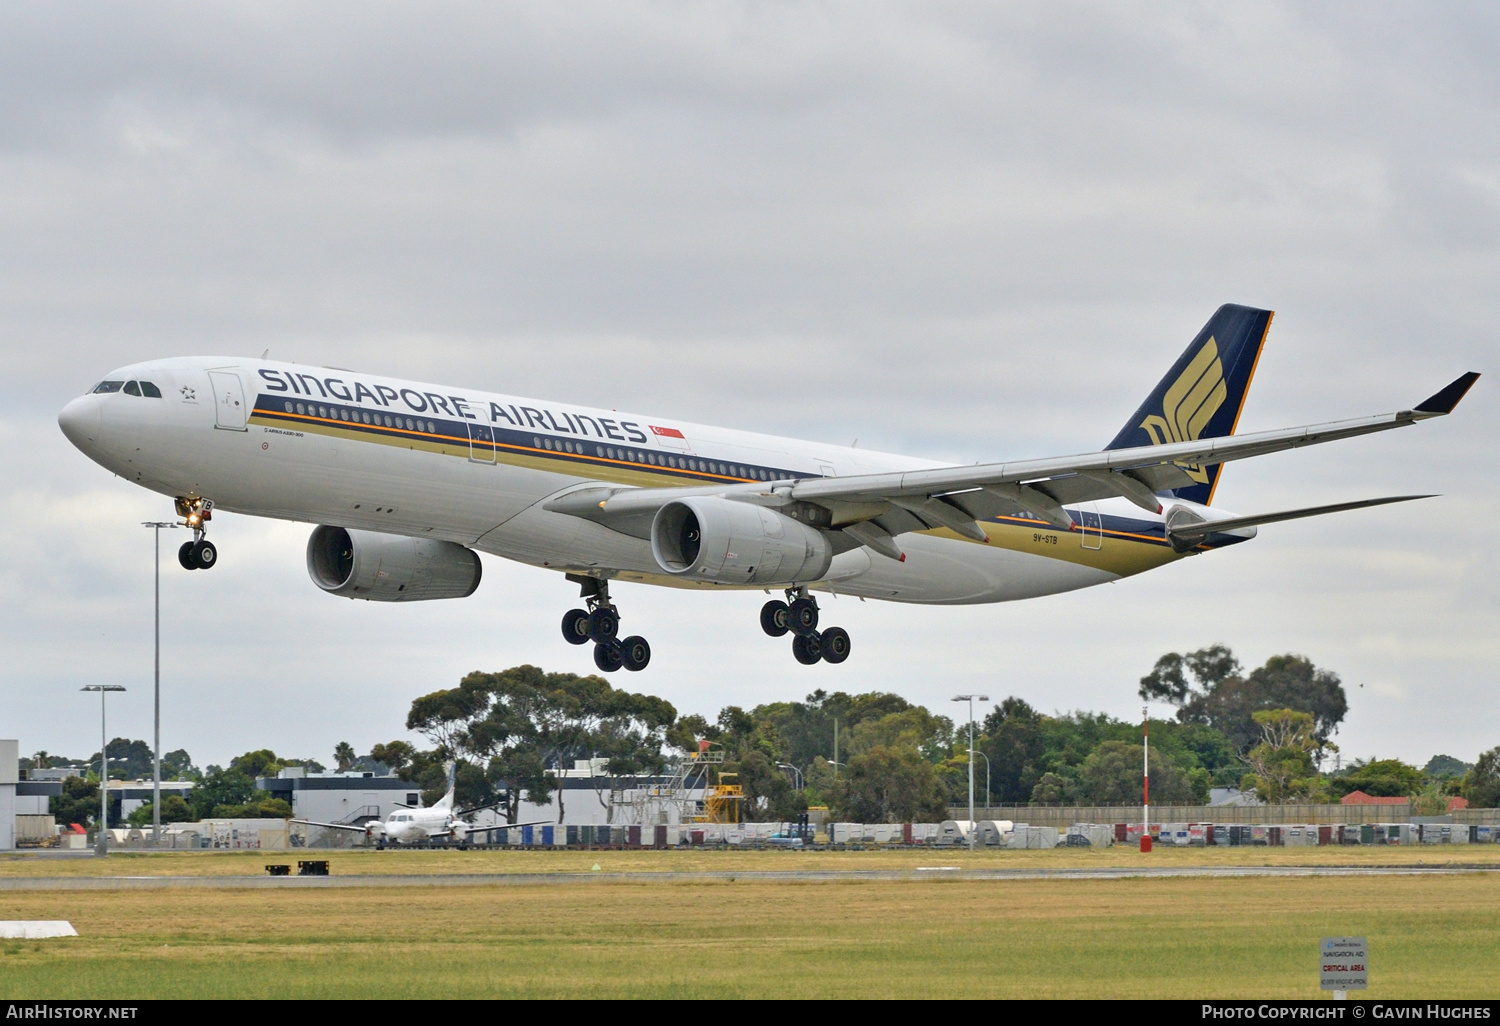
<path id="1" fill-rule="evenodd" d="M 308 574 L 330 596 L 370 602 L 466 598 L 478 555 L 453 542 L 320 526 L 308 538 Z"/>

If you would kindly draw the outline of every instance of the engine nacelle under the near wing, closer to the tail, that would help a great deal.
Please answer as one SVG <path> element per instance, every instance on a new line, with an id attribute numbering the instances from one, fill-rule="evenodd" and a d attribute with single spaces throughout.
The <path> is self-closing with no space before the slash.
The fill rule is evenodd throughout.
<path id="1" fill-rule="evenodd" d="M 828 573 L 834 548 L 820 531 L 776 510 L 704 495 L 657 510 L 651 555 L 668 573 L 693 580 L 789 585 Z"/>

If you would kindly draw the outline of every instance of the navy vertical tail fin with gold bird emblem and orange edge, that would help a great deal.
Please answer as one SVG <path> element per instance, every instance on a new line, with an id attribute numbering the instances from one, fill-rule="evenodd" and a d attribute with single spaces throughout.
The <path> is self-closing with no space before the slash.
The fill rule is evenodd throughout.
<path id="1" fill-rule="evenodd" d="M 1233 435 L 1269 330 L 1270 310 L 1233 303 L 1218 308 L 1106 448 Z M 1221 466 L 1184 465 L 1192 484 L 1172 494 L 1208 506 L 1214 501 Z"/>

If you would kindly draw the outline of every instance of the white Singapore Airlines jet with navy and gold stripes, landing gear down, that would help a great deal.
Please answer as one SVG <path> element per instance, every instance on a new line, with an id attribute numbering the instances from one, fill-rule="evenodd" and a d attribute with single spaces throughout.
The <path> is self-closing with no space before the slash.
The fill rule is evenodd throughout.
<path id="1" fill-rule="evenodd" d="M 784 590 L 760 612 L 801 663 L 842 663 L 813 591 L 912 603 L 1030 598 L 1236 544 L 1258 516 L 1215 508 L 1233 459 L 1450 412 L 1466 374 L 1412 410 L 1234 435 L 1270 312 L 1222 306 L 1114 440 L 1078 456 L 952 466 L 650 414 L 267 360 L 120 368 L 63 408 L 90 459 L 177 502 L 207 568 L 213 510 L 315 524 L 308 572 L 334 596 L 470 596 L 478 552 L 567 574 L 562 636 L 602 670 L 651 648 L 618 638 L 612 580 Z"/>

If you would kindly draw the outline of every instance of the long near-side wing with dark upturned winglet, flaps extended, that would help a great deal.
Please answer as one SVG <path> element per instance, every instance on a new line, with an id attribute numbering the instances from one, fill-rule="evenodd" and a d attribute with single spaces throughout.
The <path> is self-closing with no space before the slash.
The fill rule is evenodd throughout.
<path id="1" fill-rule="evenodd" d="M 544 502 L 543 508 L 648 538 L 651 520 L 663 504 L 688 495 L 718 495 L 774 507 L 810 526 L 842 530 L 852 544 L 897 558 L 892 540 L 897 534 L 948 528 L 982 542 L 986 534 L 976 520 L 1002 514 L 1029 514 L 1062 531 L 1077 530 L 1064 504 L 1122 496 L 1150 513 L 1161 513 L 1156 492 L 1192 484 L 1185 465 L 1226 464 L 1443 417 L 1478 378 L 1474 372 L 1460 375 L 1412 410 L 1305 428 L 891 474 L 698 488 L 588 484 Z"/>

